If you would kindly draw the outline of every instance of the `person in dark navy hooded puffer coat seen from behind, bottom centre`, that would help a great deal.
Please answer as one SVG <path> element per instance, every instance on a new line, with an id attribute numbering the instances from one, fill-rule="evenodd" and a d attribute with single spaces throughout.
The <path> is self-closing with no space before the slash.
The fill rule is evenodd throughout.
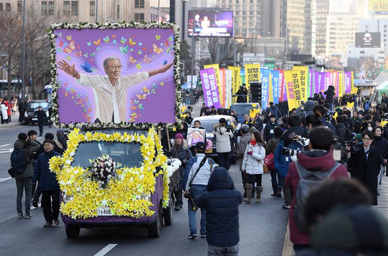
<path id="1" fill-rule="evenodd" d="M 206 239 L 208 252 L 214 255 L 223 247 L 224 253 L 238 254 L 239 205 L 242 194 L 234 188 L 233 180 L 222 167 L 214 169 L 207 191 L 194 198 L 195 205 L 206 209 Z"/>

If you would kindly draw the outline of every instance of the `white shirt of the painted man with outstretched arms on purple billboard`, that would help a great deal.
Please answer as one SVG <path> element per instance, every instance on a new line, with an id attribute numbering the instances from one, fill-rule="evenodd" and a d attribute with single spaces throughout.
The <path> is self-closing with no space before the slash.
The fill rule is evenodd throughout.
<path id="1" fill-rule="evenodd" d="M 112 86 L 108 76 L 90 76 L 80 74 L 80 79 L 76 80 L 78 84 L 93 88 L 95 97 L 96 119 L 102 123 L 125 122 L 127 120 L 126 96 L 127 88 L 133 84 L 142 82 L 149 78 L 148 72 L 139 72 L 128 77 L 119 77 L 115 85 Z"/>

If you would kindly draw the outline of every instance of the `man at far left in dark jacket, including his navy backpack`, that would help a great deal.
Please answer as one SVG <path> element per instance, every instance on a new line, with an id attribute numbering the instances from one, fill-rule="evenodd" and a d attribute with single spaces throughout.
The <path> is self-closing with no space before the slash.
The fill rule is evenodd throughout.
<path id="1" fill-rule="evenodd" d="M 31 155 L 39 149 L 39 144 L 28 139 L 24 132 L 19 133 L 14 143 L 14 151 L 11 154 L 11 167 L 15 172 L 16 180 L 16 210 L 17 218 L 31 219 L 31 192 L 33 165 Z M 23 215 L 22 197 L 25 194 L 25 213 Z"/>

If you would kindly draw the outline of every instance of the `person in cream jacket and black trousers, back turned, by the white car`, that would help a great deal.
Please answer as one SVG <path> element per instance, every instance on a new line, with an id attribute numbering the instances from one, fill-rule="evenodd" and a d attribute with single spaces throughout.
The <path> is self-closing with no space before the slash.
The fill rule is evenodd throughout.
<path id="1" fill-rule="evenodd" d="M 214 134 L 216 137 L 216 150 L 218 154 L 218 162 L 220 167 L 229 170 L 229 155 L 231 150 L 230 141 L 233 138 L 233 131 L 226 128 L 226 119 L 220 118 L 219 124 L 214 127 Z"/>

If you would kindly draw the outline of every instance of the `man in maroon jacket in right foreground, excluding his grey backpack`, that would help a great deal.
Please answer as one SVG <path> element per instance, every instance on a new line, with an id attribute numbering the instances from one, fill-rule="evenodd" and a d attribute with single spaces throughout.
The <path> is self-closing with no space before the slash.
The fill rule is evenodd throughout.
<path id="1" fill-rule="evenodd" d="M 308 150 L 297 155 L 298 162 L 309 172 L 326 172 L 330 170 L 336 161 L 333 159 L 333 144 L 334 133 L 329 128 L 320 126 L 312 128 L 309 133 L 310 144 Z M 339 165 L 337 169 L 331 174 L 330 179 L 349 178 L 347 169 L 344 165 Z M 288 175 L 286 177 L 286 184 L 296 194 L 296 189 L 299 183 L 299 174 L 296 170 L 295 162 L 291 162 Z M 310 245 L 310 235 L 301 232 L 295 219 L 293 217 L 295 209 L 295 199 L 292 198 L 291 208 L 289 212 L 290 223 L 290 240 L 294 244 L 294 251 L 297 252 L 307 249 Z"/>

